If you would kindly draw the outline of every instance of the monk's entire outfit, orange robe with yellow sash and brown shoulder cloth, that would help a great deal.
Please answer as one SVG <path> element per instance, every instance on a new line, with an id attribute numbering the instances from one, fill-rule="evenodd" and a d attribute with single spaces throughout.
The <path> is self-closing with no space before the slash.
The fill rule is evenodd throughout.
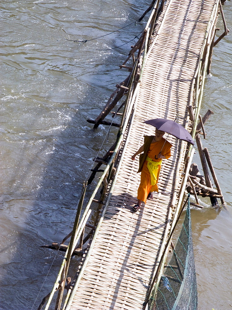
<path id="1" fill-rule="evenodd" d="M 144 155 L 140 160 L 138 172 L 141 171 L 141 181 L 138 188 L 138 199 L 146 203 L 148 193 L 158 192 L 158 179 L 161 169 L 160 158 L 157 155 L 161 152 L 166 159 L 171 156 L 170 148 L 172 145 L 162 138 L 160 141 L 153 142 L 153 136 L 144 136 Z M 162 149 L 162 151 L 161 151 Z"/>

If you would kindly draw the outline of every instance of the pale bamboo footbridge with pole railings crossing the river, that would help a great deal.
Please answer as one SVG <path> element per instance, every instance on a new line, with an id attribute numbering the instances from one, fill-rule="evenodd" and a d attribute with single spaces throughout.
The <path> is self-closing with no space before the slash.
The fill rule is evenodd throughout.
<path id="1" fill-rule="evenodd" d="M 163 160 L 159 193 L 136 213 L 132 206 L 137 202 L 140 174 L 138 157 L 132 162 L 131 156 L 144 143 L 144 135 L 154 134 L 153 127 L 143 124 L 148 119 L 176 119 L 195 137 L 220 8 L 218 0 L 169 0 L 154 5 L 140 38 L 130 82 L 124 87 L 128 95 L 114 152 L 83 215 L 77 219 L 45 309 L 56 290 L 56 309 L 145 309 L 162 274 L 169 250 L 165 245 L 183 205 L 194 149 L 168 137 L 172 156 Z M 107 180 L 105 200 L 102 202 L 101 196 L 98 201 L 99 221 L 62 300 L 71 254 L 80 238 L 83 240 L 83 227 L 97 200 L 94 197 Z"/>

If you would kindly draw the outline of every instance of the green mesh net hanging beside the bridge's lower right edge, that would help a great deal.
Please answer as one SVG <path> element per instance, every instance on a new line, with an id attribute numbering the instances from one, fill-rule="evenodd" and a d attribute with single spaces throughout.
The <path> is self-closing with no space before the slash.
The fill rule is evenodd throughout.
<path id="1" fill-rule="evenodd" d="M 193 256 L 190 205 L 173 250 L 170 262 L 165 265 L 156 294 L 148 302 L 148 310 L 197 309 L 197 285 Z"/>

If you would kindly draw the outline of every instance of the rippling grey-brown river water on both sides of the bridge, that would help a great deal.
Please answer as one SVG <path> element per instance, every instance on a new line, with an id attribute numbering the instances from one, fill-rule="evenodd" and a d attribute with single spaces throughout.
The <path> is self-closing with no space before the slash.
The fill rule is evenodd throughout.
<path id="1" fill-rule="evenodd" d="M 127 76 L 118 66 L 146 20 L 137 25 L 133 21 L 149 4 L 148 0 L 0 4 L 1 310 L 37 309 L 51 290 L 63 254 L 39 246 L 60 242 L 71 230 L 83 181 L 108 133 L 104 126 L 91 131 L 86 119 L 96 118 L 115 84 Z M 229 29 L 231 6 L 230 2 L 224 6 Z M 86 43 L 66 40 L 90 40 L 127 24 L 131 25 Z M 227 210 L 213 209 L 201 199 L 205 208 L 191 212 L 200 310 L 232 308 L 231 54 L 229 34 L 214 49 L 202 102 L 202 115 L 208 108 L 214 112 L 203 143 Z M 110 130 L 100 155 L 113 143 L 115 133 Z M 199 163 L 197 154 L 194 161 Z"/>

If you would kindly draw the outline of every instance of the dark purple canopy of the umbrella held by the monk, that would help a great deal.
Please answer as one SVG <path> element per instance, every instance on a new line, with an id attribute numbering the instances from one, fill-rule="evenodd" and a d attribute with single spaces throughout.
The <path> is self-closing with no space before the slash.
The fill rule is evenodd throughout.
<path id="1" fill-rule="evenodd" d="M 184 140 L 194 145 L 194 142 L 193 142 L 193 139 L 190 133 L 182 125 L 178 124 L 177 122 L 170 121 L 169 119 L 166 119 L 166 118 L 155 118 L 155 119 L 150 119 L 148 121 L 145 121 L 144 123 L 152 125 L 159 130 L 165 131 L 169 133 L 170 135 L 173 135 L 177 139 Z"/>

